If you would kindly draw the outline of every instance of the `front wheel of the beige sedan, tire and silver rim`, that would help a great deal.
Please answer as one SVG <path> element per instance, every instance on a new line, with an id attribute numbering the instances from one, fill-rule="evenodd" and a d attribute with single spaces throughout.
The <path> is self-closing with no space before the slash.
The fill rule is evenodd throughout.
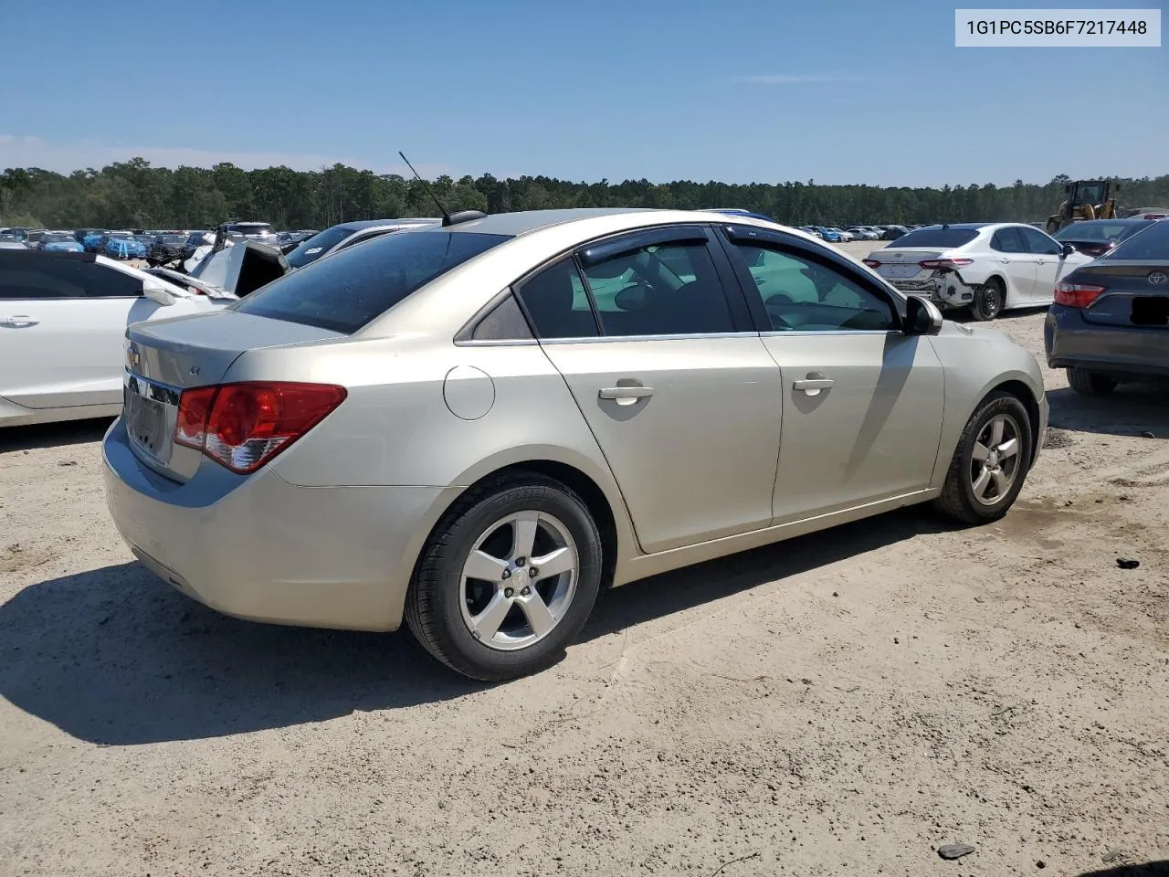
<path id="1" fill-rule="evenodd" d="M 991 444 L 996 422 L 1003 424 L 1003 431 Z M 1008 451 L 1012 440 L 1016 444 Z M 934 507 L 963 524 L 998 520 L 1023 489 L 1033 448 L 1031 420 L 1023 403 L 1010 393 L 991 393 L 967 421 Z M 987 451 L 994 454 L 980 460 Z"/>

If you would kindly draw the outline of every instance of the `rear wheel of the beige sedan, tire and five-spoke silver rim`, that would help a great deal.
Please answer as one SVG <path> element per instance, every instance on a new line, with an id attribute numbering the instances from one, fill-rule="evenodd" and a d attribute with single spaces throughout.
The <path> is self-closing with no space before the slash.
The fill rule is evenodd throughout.
<path id="1" fill-rule="evenodd" d="M 526 551 L 547 564 L 535 578 L 531 558 L 517 552 L 521 529 L 535 533 Z M 573 560 L 546 575 L 554 562 Z M 511 472 L 469 490 L 435 526 L 406 621 L 427 651 L 463 676 L 514 679 L 560 658 L 593 612 L 601 573 L 601 533 L 580 496 L 553 478 Z"/>

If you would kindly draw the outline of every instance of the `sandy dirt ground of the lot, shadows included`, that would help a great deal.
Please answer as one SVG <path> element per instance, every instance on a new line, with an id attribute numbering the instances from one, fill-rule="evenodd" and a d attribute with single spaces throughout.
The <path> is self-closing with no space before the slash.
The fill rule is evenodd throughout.
<path id="1" fill-rule="evenodd" d="M 1042 352 L 1042 313 L 998 325 Z M 637 582 L 496 688 L 404 634 L 189 602 L 106 517 L 105 423 L 5 430 L 0 875 L 1169 859 L 1169 395 L 1046 379 L 1052 430 L 1003 522 L 905 510 Z M 943 862 L 952 842 L 976 851 Z"/>

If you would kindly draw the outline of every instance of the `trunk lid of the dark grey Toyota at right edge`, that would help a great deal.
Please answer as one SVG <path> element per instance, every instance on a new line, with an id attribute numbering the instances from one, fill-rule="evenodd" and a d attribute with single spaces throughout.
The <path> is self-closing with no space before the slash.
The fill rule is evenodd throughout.
<path id="1" fill-rule="evenodd" d="M 1084 309 L 1087 323 L 1169 331 L 1169 262 L 1100 260 L 1078 268 L 1068 283 L 1104 286 Z"/>

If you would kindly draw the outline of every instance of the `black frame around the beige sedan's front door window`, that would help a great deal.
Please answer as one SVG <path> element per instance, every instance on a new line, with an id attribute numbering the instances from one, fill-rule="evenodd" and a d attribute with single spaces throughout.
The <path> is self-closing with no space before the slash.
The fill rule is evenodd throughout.
<path id="1" fill-rule="evenodd" d="M 719 229 L 722 232 L 720 242 L 727 253 L 727 258 L 731 260 L 734 267 L 735 277 L 739 282 L 740 291 L 743 298 L 747 301 L 747 305 L 750 310 L 752 318 L 755 322 L 756 331 L 760 336 L 772 337 L 772 336 L 793 336 L 793 334 L 905 334 L 905 296 L 899 290 L 893 286 L 874 281 L 871 277 L 866 277 L 859 272 L 855 265 L 850 264 L 844 257 L 831 253 L 826 247 L 816 247 L 809 241 L 804 241 L 801 237 L 795 237 L 794 235 L 786 234 L 783 232 L 773 232 L 772 229 L 758 228 L 755 226 L 735 226 L 733 223 L 719 223 Z M 736 240 L 738 239 L 738 240 Z M 812 262 L 818 262 L 823 267 L 829 268 L 841 275 L 846 279 L 852 281 L 862 289 L 866 289 L 878 298 L 884 298 L 886 303 L 893 311 L 893 329 L 831 329 L 831 330 L 777 330 L 772 326 L 772 320 L 767 316 L 767 309 L 763 306 L 762 299 L 755 295 L 750 296 L 747 290 L 755 285 L 755 281 L 750 275 L 750 271 L 743 261 L 742 256 L 735 250 L 735 246 L 739 242 L 749 241 L 761 241 L 766 244 L 770 244 L 780 253 L 789 250 L 791 255 L 797 257 L 807 257 Z"/>

